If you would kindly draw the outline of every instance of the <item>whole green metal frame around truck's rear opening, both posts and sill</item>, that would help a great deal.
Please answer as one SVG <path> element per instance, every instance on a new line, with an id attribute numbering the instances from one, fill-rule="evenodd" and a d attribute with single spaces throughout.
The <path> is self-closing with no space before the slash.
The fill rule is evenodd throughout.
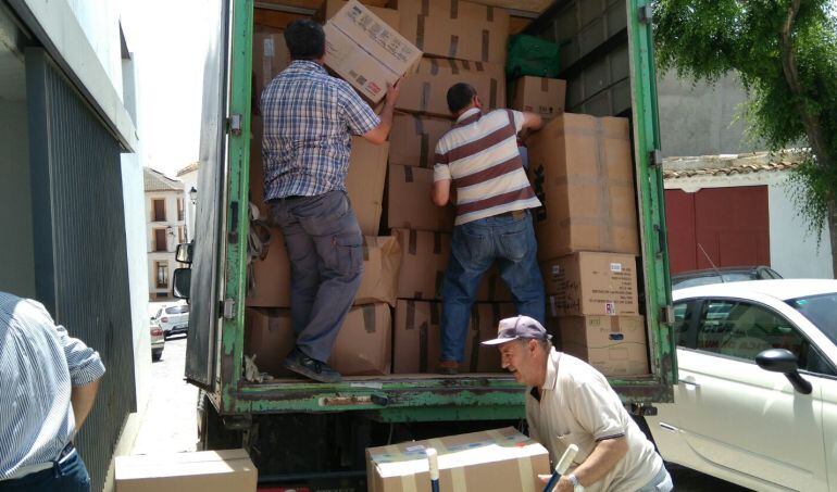
<path id="1" fill-rule="evenodd" d="M 676 362 L 671 327 L 660 313 L 671 304 L 669 257 L 665 243 L 662 169 L 651 166 L 649 152 L 660 148 L 657 116 L 651 27 L 638 21 L 646 0 L 627 0 L 630 79 L 646 302 L 652 345 L 653 376 L 611 379 L 624 402 L 671 402 Z M 373 412 L 388 421 L 517 418 L 523 413 L 523 389 L 510 377 L 438 379 L 347 378 L 339 384 L 308 381 L 248 384 L 242 381 L 245 297 L 247 270 L 248 189 L 250 152 L 250 78 L 252 0 L 235 0 L 232 7 L 232 65 L 229 113 L 241 116 L 240 135 L 229 136 L 226 199 L 225 297 L 235 305 L 224 318 L 220 350 L 220 412 L 223 414 L 287 412 Z"/>

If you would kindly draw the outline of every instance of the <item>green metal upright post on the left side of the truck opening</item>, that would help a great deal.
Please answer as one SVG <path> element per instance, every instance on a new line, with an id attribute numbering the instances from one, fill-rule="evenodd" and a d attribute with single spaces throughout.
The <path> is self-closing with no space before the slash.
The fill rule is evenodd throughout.
<path id="1" fill-rule="evenodd" d="M 240 130 L 228 129 L 228 169 L 226 197 L 226 263 L 224 298 L 232 303 L 221 326 L 221 412 L 236 406 L 241 378 L 245 337 L 245 298 L 247 295 L 247 238 L 249 235 L 250 165 L 250 79 L 252 67 L 252 0 L 233 0 L 230 5 L 230 122 L 240 116 Z"/>

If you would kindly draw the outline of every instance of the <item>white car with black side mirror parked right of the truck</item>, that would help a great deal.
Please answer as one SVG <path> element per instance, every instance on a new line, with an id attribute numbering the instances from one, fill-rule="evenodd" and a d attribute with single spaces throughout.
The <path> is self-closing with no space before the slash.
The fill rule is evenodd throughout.
<path id="1" fill-rule="evenodd" d="M 759 491 L 837 492 L 837 280 L 673 295 L 674 403 L 646 417 L 663 459 Z"/>

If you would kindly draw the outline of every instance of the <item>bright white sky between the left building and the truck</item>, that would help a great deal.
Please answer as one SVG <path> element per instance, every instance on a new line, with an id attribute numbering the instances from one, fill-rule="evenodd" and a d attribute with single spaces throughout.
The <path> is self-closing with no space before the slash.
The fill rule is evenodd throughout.
<path id="1" fill-rule="evenodd" d="M 208 12 L 216 0 L 117 0 L 137 70 L 145 165 L 174 177 L 198 160 Z"/>

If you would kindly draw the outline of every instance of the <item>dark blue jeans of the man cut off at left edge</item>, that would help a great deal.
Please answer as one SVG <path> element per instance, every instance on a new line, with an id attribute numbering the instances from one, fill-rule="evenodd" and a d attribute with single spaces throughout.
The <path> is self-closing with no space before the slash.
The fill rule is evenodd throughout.
<path id="1" fill-rule="evenodd" d="M 78 452 L 52 468 L 15 480 L 0 481 L 0 492 L 90 492 L 90 476 Z"/>

